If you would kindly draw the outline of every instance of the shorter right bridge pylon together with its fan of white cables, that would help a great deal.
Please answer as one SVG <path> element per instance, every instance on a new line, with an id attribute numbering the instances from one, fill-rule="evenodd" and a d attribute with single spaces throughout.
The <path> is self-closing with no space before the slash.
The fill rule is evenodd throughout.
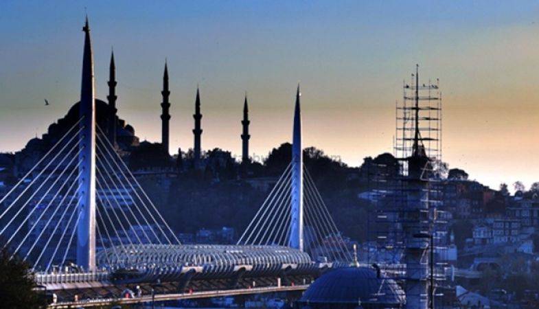
<path id="1" fill-rule="evenodd" d="M 238 240 L 240 245 L 289 246 L 313 260 L 350 262 L 352 254 L 303 165 L 301 92 L 296 93 L 292 161 Z"/>

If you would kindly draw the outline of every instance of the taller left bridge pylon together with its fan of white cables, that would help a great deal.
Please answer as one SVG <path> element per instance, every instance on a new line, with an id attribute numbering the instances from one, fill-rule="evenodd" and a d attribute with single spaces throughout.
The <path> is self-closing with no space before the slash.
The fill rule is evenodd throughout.
<path id="1" fill-rule="evenodd" d="M 146 244 L 156 252 L 159 245 L 180 244 L 95 123 L 88 19 L 83 31 L 80 117 L 0 198 L 1 245 L 34 271 L 68 262 L 94 271 L 96 251 L 119 258 Z"/>

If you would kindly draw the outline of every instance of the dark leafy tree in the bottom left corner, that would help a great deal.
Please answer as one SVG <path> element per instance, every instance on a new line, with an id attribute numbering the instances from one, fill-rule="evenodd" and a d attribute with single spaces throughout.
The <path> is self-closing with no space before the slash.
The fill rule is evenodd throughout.
<path id="1" fill-rule="evenodd" d="M 46 308 L 45 297 L 34 290 L 36 284 L 28 265 L 19 258 L 10 258 L 0 251 L 0 304 L 2 308 Z"/>

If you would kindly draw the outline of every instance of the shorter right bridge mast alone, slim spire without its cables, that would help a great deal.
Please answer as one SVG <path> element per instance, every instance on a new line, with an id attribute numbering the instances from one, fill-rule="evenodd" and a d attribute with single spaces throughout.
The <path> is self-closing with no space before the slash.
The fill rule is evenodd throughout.
<path id="1" fill-rule="evenodd" d="M 303 156 L 301 152 L 301 109 L 299 84 L 296 92 L 294 131 L 292 142 L 292 207 L 290 220 L 290 247 L 303 251 Z"/>

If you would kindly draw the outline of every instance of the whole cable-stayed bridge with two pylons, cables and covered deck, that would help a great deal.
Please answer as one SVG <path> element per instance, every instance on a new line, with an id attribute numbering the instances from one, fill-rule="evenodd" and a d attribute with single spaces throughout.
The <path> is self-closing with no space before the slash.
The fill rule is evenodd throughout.
<path id="1" fill-rule="evenodd" d="M 351 262 L 303 165 L 299 87 L 293 159 L 238 243 L 181 244 L 95 122 L 88 21 L 83 30 L 79 117 L 0 198 L 2 246 L 58 295 L 51 306 L 303 290 Z"/>

